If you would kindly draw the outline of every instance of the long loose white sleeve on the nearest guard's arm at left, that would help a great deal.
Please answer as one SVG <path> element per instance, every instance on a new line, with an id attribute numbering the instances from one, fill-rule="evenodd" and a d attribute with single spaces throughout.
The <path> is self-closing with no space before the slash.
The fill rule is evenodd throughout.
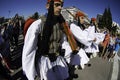
<path id="1" fill-rule="evenodd" d="M 35 54 L 37 50 L 38 34 L 40 33 L 41 19 L 33 22 L 25 36 L 23 52 L 22 52 L 22 68 L 28 80 L 34 80 L 35 70 Z"/>

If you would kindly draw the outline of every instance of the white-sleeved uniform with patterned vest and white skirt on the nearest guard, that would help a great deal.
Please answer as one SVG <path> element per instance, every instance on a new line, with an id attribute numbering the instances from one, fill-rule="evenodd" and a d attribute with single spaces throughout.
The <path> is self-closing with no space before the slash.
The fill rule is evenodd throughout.
<path id="1" fill-rule="evenodd" d="M 39 19 L 29 27 L 23 47 L 22 67 L 23 72 L 29 80 L 34 80 L 36 74 L 41 80 L 64 80 L 69 77 L 67 64 L 59 55 L 59 48 L 62 43 L 63 32 L 59 24 L 53 26 L 53 33 L 50 36 L 49 54 L 55 53 L 57 58 L 51 62 L 48 55 L 41 55 L 35 67 L 35 56 L 37 52 L 38 35 L 42 32 L 42 20 Z M 39 53 L 44 54 L 44 53 Z"/>

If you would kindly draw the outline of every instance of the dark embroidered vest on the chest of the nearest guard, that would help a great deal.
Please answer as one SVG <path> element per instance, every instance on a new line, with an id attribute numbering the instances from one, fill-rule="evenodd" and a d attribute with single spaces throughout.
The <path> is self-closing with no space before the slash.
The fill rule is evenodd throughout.
<path id="1" fill-rule="evenodd" d="M 46 17 L 43 16 L 41 18 L 41 20 L 42 20 L 41 27 L 40 27 L 41 32 L 38 35 L 38 44 L 37 44 L 38 45 L 38 54 L 45 55 L 45 56 L 47 56 L 49 54 L 59 55 L 59 50 L 61 48 L 61 42 L 62 42 L 62 37 L 63 37 L 62 27 L 60 26 L 59 23 L 57 23 L 53 26 L 53 30 L 52 30 L 52 33 L 50 36 L 48 53 L 41 53 L 41 47 L 42 47 L 42 45 L 44 45 L 41 43 L 41 40 L 42 40 L 42 36 L 43 36 L 43 27 L 44 27 L 44 24 L 46 21 Z"/>

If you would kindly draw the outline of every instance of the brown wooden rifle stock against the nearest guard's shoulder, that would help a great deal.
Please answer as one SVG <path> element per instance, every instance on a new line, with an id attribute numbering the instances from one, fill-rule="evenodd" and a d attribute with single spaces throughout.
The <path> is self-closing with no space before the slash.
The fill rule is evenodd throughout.
<path id="1" fill-rule="evenodd" d="M 77 43 L 73 37 L 72 32 L 70 31 L 70 29 L 68 27 L 68 24 L 66 22 L 63 22 L 62 25 L 64 27 L 64 31 L 65 31 L 65 34 L 67 35 L 68 42 L 71 46 L 72 51 L 77 51 L 78 46 L 77 46 Z"/>

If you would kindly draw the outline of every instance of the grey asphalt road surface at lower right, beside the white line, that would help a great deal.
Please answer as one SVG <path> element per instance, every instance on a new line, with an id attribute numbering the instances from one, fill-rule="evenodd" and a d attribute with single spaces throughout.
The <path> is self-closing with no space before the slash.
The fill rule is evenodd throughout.
<path id="1" fill-rule="evenodd" d="M 101 57 L 90 60 L 91 67 L 85 67 L 84 70 L 76 70 L 79 78 L 74 80 L 110 80 L 113 62 L 108 62 Z"/>

